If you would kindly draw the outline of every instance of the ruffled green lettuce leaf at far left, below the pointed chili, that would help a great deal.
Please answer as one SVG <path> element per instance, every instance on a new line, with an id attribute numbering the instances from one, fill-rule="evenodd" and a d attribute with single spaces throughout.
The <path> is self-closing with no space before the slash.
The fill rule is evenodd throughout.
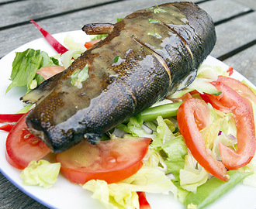
<path id="1" fill-rule="evenodd" d="M 36 70 L 40 69 L 40 67 L 54 65 L 58 65 L 58 60 L 54 57 L 49 57 L 43 51 L 27 49 L 23 52 L 16 52 L 10 77 L 12 83 L 7 87 L 5 94 L 16 86 L 26 86 L 27 92 L 31 91 L 44 81 L 40 74 L 36 74 Z"/>

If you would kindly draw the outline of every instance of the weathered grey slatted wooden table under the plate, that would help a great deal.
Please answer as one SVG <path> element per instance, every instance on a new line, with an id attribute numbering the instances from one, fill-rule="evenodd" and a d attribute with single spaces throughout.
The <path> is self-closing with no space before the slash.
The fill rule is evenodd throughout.
<path id="1" fill-rule="evenodd" d="M 0 57 L 42 37 L 29 19 L 49 33 L 81 29 L 90 22 L 116 22 L 137 9 L 161 0 L 0 0 Z M 213 17 L 217 42 L 211 55 L 227 63 L 256 84 L 255 0 L 192 1 Z M 1 69 L 4 70 L 4 69 Z M 2 90 L 3 91 L 3 90 Z M 1 159 L 3 160 L 3 159 Z M 23 194 L 0 173 L 0 208 L 46 208 Z"/>

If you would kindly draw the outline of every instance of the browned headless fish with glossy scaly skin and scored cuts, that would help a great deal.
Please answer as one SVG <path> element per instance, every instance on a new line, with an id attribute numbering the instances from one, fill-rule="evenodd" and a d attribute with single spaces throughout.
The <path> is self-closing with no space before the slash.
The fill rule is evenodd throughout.
<path id="1" fill-rule="evenodd" d="M 213 20 L 189 2 L 158 8 L 165 12 L 154 13 L 154 6 L 116 22 L 67 70 L 24 95 L 36 103 L 26 117 L 29 131 L 53 152 L 85 138 L 98 143 L 109 129 L 190 84 L 216 43 Z M 73 86 L 71 75 L 86 64 L 88 79 Z"/>

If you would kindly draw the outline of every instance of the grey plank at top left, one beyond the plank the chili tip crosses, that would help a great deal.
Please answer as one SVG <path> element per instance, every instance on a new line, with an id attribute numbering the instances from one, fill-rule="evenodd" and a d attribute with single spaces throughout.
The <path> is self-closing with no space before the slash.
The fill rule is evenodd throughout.
<path id="1" fill-rule="evenodd" d="M 5 14 L 0 16 L 0 28 L 26 22 L 29 19 L 45 18 L 106 2 L 112 2 L 112 0 L 28 0 L 13 2 L 12 4 L 6 4 L 0 7 L 0 14 Z"/>

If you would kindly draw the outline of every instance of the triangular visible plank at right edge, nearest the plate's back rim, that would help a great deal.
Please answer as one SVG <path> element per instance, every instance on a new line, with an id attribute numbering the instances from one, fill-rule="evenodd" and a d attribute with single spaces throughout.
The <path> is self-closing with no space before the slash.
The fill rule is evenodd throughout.
<path id="1" fill-rule="evenodd" d="M 254 72 L 256 66 L 256 45 L 251 46 L 247 50 L 237 53 L 233 57 L 224 60 L 230 67 L 234 67 L 240 74 L 247 77 L 254 85 L 256 85 L 256 74 Z"/>

